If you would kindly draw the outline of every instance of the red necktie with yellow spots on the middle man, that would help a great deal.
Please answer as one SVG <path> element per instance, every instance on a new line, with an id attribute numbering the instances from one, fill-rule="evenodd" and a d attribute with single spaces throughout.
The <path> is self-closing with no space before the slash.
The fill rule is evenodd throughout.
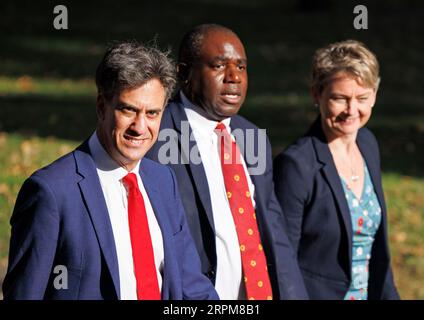
<path id="1" fill-rule="evenodd" d="M 223 123 L 218 123 L 215 131 L 220 140 L 225 189 L 240 244 L 247 298 L 272 300 L 266 257 L 259 236 L 246 174 L 240 161 L 239 148 L 231 139 Z"/>

